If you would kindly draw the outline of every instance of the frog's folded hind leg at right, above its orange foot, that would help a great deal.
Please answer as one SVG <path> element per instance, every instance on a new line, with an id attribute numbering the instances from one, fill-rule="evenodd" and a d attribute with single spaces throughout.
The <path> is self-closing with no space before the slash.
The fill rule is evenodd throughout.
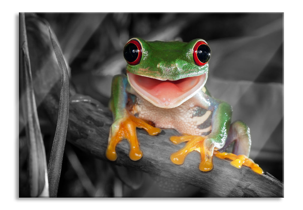
<path id="1" fill-rule="evenodd" d="M 225 151 L 225 149 L 233 142 L 235 142 L 235 145 L 232 153 L 236 155 L 249 156 L 251 147 L 249 127 L 240 120 L 231 123 L 225 145 L 219 151 Z"/>

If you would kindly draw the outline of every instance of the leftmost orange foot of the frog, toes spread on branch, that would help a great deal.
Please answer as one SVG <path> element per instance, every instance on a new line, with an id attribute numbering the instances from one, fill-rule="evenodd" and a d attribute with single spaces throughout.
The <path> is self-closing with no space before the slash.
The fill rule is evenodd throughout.
<path id="1" fill-rule="evenodd" d="M 154 136 L 161 132 L 160 128 L 155 128 L 143 120 L 128 113 L 126 117 L 115 121 L 110 129 L 108 146 L 106 149 L 106 157 L 109 160 L 115 161 L 117 159 L 116 146 L 122 139 L 127 139 L 130 151 L 129 157 L 132 160 L 139 160 L 143 153 L 139 147 L 136 128 L 145 129 L 149 135 Z"/>

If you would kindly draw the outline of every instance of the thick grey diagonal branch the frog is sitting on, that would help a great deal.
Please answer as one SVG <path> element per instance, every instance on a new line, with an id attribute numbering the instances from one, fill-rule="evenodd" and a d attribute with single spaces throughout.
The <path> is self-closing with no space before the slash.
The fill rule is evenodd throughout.
<path id="1" fill-rule="evenodd" d="M 108 142 L 112 114 L 106 107 L 88 102 L 70 104 L 68 141 L 99 159 L 108 161 L 105 151 Z M 200 154 L 190 153 L 184 164 L 175 165 L 170 154 L 180 149 L 169 137 L 178 135 L 172 129 L 163 129 L 158 136 L 149 136 L 145 130 L 138 129 L 138 139 L 143 157 L 132 161 L 128 157 L 129 145 L 123 140 L 117 145 L 117 165 L 142 172 L 177 179 L 222 197 L 283 197 L 283 183 L 267 175 L 260 175 L 243 166 L 236 169 L 230 161 L 213 157 L 214 169 L 201 172 L 198 169 Z"/>

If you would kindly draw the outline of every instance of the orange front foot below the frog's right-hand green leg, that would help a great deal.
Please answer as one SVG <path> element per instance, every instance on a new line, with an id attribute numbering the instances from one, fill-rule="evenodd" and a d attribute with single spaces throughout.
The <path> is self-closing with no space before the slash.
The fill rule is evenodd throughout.
<path id="1" fill-rule="evenodd" d="M 199 169 L 201 171 L 210 171 L 213 168 L 212 155 L 214 152 L 214 144 L 206 136 L 171 136 L 170 140 L 175 144 L 186 142 L 186 145 L 178 152 L 171 154 L 171 162 L 175 164 L 183 164 L 188 153 L 196 150 L 201 154 L 201 162 Z"/>

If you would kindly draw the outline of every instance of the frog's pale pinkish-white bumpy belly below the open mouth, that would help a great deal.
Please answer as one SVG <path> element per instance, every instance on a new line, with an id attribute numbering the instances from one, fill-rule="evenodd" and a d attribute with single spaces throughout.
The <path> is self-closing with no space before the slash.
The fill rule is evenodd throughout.
<path id="1" fill-rule="evenodd" d="M 135 94 L 137 101 L 132 113 L 137 117 L 152 121 L 159 128 L 173 128 L 181 134 L 208 135 L 211 131 L 211 111 L 194 105 L 189 99 L 178 107 L 159 108 Z"/>

